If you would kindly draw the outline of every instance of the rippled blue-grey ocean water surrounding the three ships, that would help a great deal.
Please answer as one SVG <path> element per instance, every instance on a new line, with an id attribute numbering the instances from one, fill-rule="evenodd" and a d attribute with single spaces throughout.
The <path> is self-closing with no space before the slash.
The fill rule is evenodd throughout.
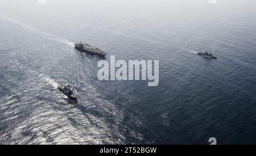
<path id="1" fill-rule="evenodd" d="M 0 144 L 256 144 L 255 1 L 0 3 Z M 77 41 L 159 60 L 159 85 L 98 81 Z"/>

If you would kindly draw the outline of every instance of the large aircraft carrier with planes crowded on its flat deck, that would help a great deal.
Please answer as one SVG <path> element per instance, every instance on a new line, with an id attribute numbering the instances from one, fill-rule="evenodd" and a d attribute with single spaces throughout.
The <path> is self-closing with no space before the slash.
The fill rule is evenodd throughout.
<path id="1" fill-rule="evenodd" d="M 100 48 L 93 47 L 92 45 L 89 45 L 89 44 L 83 44 L 82 42 L 76 43 L 74 45 L 75 45 L 75 48 L 81 52 L 105 58 L 106 53 L 102 51 Z"/>

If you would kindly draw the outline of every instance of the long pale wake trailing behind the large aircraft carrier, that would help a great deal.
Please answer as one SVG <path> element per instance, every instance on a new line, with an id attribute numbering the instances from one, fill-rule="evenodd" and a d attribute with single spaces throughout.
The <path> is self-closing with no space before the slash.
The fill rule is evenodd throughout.
<path id="1" fill-rule="evenodd" d="M 15 19 L 12 19 L 12 18 L 5 18 L 4 17 L 2 19 L 5 19 L 5 20 L 7 20 L 11 23 L 17 24 L 18 26 L 20 26 L 22 28 L 28 29 L 28 31 L 31 31 L 31 32 L 34 32 L 34 33 L 36 33 L 40 36 L 46 37 L 47 39 L 56 40 L 56 41 L 59 41 L 60 43 L 64 43 L 64 44 L 67 44 L 67 45 L 74 46 L 74 43 L 72 41 L 69 41 L 68 39 L 64 39 L 63 37 L 54 35 L 53 33 L 41 31 L 41 30 L 36 29 L 32 26 L 29 26 L 28 24 L 19 22 L 18 20 L 15 20 Z"/>

